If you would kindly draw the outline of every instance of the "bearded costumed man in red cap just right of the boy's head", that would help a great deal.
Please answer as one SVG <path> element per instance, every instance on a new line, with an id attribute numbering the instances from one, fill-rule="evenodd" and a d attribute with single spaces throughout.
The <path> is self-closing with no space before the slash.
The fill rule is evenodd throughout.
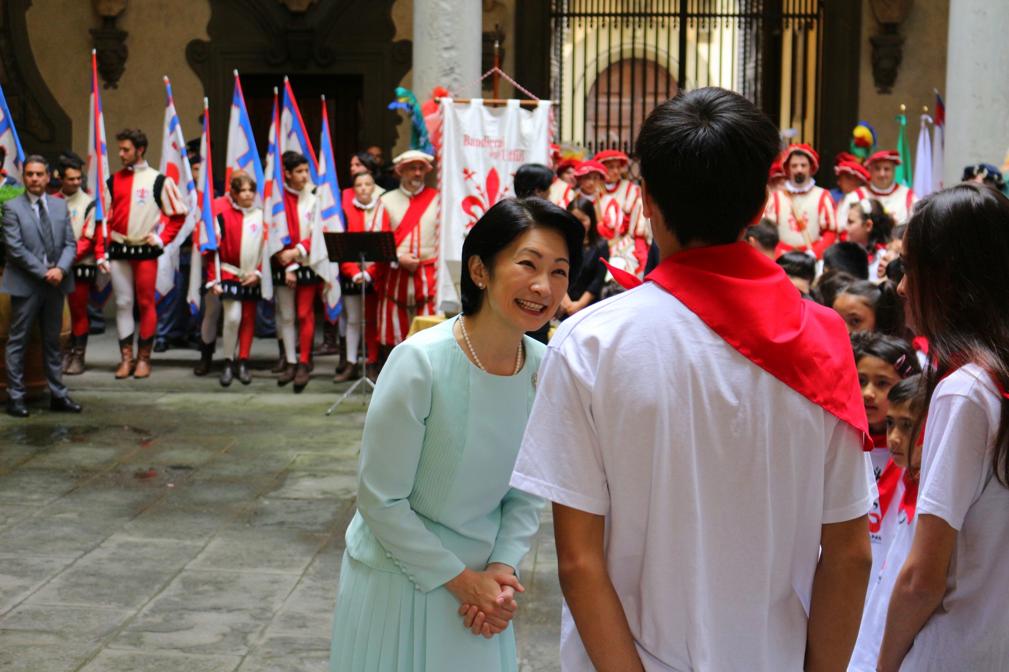
<path id="1" fill-rule="evenodd" d="M 813 180 L 819 155 L 808 144 L 793 144 L 785 150 L 781 164 L 784 189 L 771 193 L 766 211 L 778 224 L 778 254 L 812 251 L 819 258 L 837 236 L 833 199 Z"/>

